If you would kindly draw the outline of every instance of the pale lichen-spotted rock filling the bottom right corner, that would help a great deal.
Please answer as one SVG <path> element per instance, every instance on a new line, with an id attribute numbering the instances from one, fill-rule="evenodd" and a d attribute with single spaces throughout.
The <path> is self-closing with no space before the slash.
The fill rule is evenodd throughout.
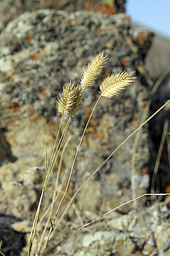
<path id="1" fill-rule="evenodd" d="M 131 210 L 128 214 L 115 216 L 113 219 L 104 217 L 100 223 L 89 226 L 88 232 L 78 231 L 67 244 L 60 243 L 53 253 L 60 253 L 63 249 L 61 255 L 168 256 L 168 229 L 169 209 L 164 203 L 156 203 L 143 210 Z M 162 232 L 167 232 L 166 236 Z M 52 245 L 54 241 L 49 244 Z"/>

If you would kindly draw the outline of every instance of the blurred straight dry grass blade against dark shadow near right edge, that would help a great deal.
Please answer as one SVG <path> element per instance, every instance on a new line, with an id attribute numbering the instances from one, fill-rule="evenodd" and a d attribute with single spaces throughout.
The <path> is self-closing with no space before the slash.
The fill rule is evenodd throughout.
<path id="1" fill-rule="evenodd" d="M 164 144 L 165 144 L 167 130 L 168 130 L 168 120 L 166 120 L 165 124 L 164 124 L 162 139 L 161 139 L 161 142 L 160 142 L 160 146 L 159 146 L 159 150 L 158 150 L 158 154 L 157 154 L 157 158 L 156 158 L 156 162 L 155 162 L 155 167 L 154 167 L 153 177 L 152 177 L 152 183 L 151 183 L 151 194 L 153 194 L 154 191 L 155 191 L 155 181 L 156 181 L 156 176 L 157 176 L 158 167 L 159 167 L 159 163 L 160 163 L 160 157 L 162 156 L 162 151 L 163 151 L 163 147 L 164 147 Z M 153 201 L 153 200 L 154 200 L 154 198 L 151 197 L 151 201 Z"/>

